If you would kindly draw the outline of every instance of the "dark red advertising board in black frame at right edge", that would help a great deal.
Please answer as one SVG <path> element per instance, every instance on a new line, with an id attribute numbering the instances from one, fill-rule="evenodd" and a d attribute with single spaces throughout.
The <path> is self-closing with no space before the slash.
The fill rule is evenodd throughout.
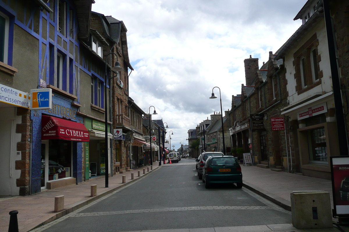
<path id="1" fill-rule="evenodd" d="M 349 156 L 330 156 L 333 216 L 349 215 Z"/>

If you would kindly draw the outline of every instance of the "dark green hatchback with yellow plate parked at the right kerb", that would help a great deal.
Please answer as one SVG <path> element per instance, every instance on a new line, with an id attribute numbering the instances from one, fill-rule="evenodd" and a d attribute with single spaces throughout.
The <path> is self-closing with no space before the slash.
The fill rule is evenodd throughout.
<path id="1" fill-rule="evenodd" d="M 238 188 L 242 188 L 241 167 L 235 157 L 229 155 L 210 156 L 203 166 L 202 182 L 206 189 L 212 184 L 236 183 Z"/>

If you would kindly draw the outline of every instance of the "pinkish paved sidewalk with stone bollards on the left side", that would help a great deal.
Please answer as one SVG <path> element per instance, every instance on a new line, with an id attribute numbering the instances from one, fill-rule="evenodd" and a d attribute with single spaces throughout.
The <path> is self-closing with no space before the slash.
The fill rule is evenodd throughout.
<path id="1" fill-rule="evenodd" d="M 147 172 L 147 167 L 149 167 L 149 172 Z M 145 168 L 146 174 L 143 174 L 143 168 Z M 150 166 L 145 166 L 135 168 L 132 171 L 126 171 L 126 173 L 123 174 L 116 174 L 113 177 L 109 177 L 108 188 L 105 188 L 105 178 L 99 178 L 91 179 L 90 181 L 78 185 L 69 185 L 43 191 L 35 195 L 0 198 L 0 232 L 8 231 L 10 220 L 10 215 L 8 213 L 11 210 L 18 210 L 19 231 L 27 232 L 104 197 L 116 189 L 126 186 L 149 174 L 157 168 L 159 168 L 158 162 L 153 162 L 153 170 L 150 170 Z M 141 171 L 140 177 L 138 177 L 138 170 Z M 134 173 L 133 180 L 131 180 L 131 173 Z M 124 175 L 126 176 L 126 184 L 122 184 L 122 176 Z M 97 196 L 95 197 L 90 197 L 92 184 L 97 184 Z M 54 213 L 54 197 L 58 195 L 64 195 L 65 210 Z"/>

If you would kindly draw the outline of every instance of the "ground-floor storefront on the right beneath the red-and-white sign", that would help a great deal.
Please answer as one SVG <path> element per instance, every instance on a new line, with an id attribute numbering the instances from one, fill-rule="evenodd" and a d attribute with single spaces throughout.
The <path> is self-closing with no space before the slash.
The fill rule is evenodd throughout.
<path id="1" fill-rule="evenodd" d="M 329 156 L 339 155 L 334 101 L 331 93 L 289 109 L 289 133 L 294 139 L 292 170 L 305 176 L 331 179 Z"/>

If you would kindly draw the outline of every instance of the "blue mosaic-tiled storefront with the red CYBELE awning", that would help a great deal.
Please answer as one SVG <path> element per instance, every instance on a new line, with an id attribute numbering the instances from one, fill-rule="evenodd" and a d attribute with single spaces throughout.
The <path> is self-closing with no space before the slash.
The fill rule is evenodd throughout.
<path id="1" fill-rule="evenodd" d="M 72 101 L 52 97 L 52 109 L 32 110 L 31 194 L 82 182 L 82 143 L 89 131 Z"/>

